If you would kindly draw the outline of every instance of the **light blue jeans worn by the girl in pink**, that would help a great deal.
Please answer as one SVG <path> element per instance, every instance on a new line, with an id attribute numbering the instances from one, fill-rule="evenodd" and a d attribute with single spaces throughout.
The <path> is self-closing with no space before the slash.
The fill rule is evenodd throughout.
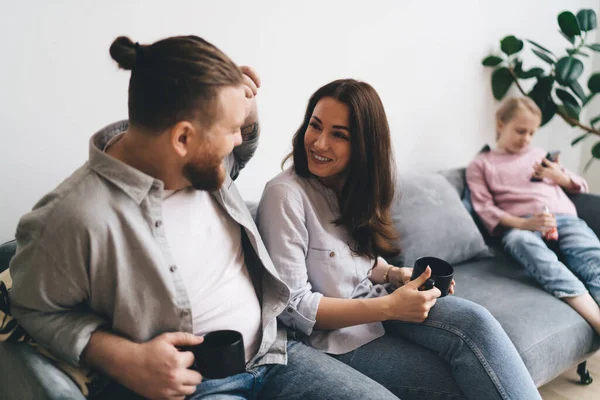
<path id="1" fill-rule="evenodd" d="M 574 297 L 589 291 L 600 304 L 600 241 L 580 218 L 557 215 L 559 260 L 539 232 L 511 229 L 505 250 L 554 296 Z"/>

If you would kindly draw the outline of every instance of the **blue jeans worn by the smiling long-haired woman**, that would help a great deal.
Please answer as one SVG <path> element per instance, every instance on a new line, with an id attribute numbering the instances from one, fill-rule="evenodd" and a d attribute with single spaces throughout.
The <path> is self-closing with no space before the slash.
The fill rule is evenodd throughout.
<path id="1" fill-rule="evenodd" d="M 484 307 L 449 296 L 422 324 L 384 326 L 382 338 L 336 357 L 403 400 L 540 398 L 514 345 Z M 405 341 L 427 350 L 407 353 Z"/>

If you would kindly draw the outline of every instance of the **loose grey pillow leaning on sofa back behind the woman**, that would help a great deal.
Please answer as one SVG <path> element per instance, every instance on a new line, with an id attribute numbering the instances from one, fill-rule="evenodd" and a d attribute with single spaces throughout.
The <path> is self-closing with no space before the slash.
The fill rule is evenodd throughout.
<path id="1" fill-rule="evenodd" d="M 422 256 L 451 264 L 487 255 L 487 246 L 457 190 L 438 173 L 407 174 L 398 180 L 392 204 L 400 256 L 389 262 L 413 265 Z"/>

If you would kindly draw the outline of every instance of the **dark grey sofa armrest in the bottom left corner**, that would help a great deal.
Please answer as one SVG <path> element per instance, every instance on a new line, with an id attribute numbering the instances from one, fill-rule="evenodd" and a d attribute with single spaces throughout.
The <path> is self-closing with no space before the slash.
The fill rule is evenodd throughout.
<path id="1" fill-rule="evenodd" d="M 85 400 L 75 382 L 25 343 L 0 343 L 0 399 Z"/>

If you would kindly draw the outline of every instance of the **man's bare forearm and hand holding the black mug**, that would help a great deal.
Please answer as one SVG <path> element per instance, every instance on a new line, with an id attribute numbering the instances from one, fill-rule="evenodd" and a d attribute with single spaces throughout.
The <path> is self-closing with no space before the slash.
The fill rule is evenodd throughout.
<path id="1" fill-rule="evenodd" d="M 146 343 L 96 331 L 83 358 L 123 386 L 149 399 L 181 399 L 193 394 L 202 376 L 188 369 L 194 362 L 189 351 L 176 346 L 194 346 L 204 338 L 185 332 L 163 333 Z"/>

